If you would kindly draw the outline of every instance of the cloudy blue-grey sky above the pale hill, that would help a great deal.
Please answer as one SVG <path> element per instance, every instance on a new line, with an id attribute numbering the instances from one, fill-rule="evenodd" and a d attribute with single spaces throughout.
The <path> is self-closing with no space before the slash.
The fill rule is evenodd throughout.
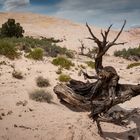
<path id="1" fill-rule="evenodd" d="M 46 14 L 98 27 L 140 27 L 140 0 L 0 0 L 0 11 Z"/>

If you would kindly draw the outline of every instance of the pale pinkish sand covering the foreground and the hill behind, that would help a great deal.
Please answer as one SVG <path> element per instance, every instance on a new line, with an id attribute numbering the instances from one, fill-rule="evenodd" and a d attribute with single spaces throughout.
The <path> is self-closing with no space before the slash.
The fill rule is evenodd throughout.
<path id="1" fill-rule="evenodd" d="M 64 19 L 31 14 L 31 13 L 0 13 L 0 25 L 8 18 L 15 18 L 25 29 L 25 35 L 34 37 L 55 37 L 64 39 L 61 45 L 79 51 L 78 39 L 84 41 L 87 47 L 95 46 L 92 41 L 85 39 L 89 33 L 83 24 L 73 23 Z M 100 36 L 101 29 L 92 26 L 94 33 Z M 116 35 L 112 30 L 109 40 Z M 104 57 L 104 65 L 114 66 L 120 75 L 120 83 L 138 84 L 140 82 L 140 67 L 126 69 L 131 61 L 112 56 L 113 51 L 122 48 L 136 47 L 140 44 L 140 29 L 125 31 L 119 41 L 128 42 L 125 46 L 116 46 L 109 50 L 109 56 Z M 83 64 L 89 58 L 76 56 L 75 64 Z M 52 58 L 34 61 L 25 58 L 11 61 L 0 56 L 0 140 L 102 140 L 95 123 L 88 118 L 87 112 L 75 112 L 62 105 L 53 93 L 57 84 L 57 67 L 51 64 Z M 24 79 L 12 77 L 13 68 L 20 70 Z M 88 73 L 95 71 L 88 68 Z M 74 68 L 65 70 L 72 78 L 83 80 Z M 35 79 L 38 76 L 50 80 L 50 87 L 44 88 L 53 95 L 53 103 L 40 103 L 29 99 L 29 93 L 38 89 Z M 18 103 L 21 104 L 18 104 Z M 120 105 L 124 109 L 140 108 L 140 96 Z M 140 116 L 136 116 L 128 127 L 121 127 L 109 123 L 102 123 L 104 135 L 107 139 L 127 140 L 132 135 L 135 140 L 140 139 Z"/>

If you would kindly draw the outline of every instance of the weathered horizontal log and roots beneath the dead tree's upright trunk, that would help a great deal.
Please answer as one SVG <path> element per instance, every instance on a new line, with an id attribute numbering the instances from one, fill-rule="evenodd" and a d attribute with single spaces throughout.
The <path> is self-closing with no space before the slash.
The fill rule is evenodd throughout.
<path id="1" fill-rule="evenodd" d="M 108 114 L 108 110 L 117 104 L 131 100 L 131 98 L 140 95 L 140 85 L 118 84 L 118 90 L 116 93 L 118 97 L 116 97 L 113 101 L 109 98 L 101 101 L 98 99 L 95 99 L 92 102 L 87 101 L 85 96 L 76 94 L 75 91 L 63 84 L 56 85 L 54 87 L 54 92 L 61 101 L 65 101 L 75 109 L 88 112 L 91 111 L 89 117 L 92 118 L 93 121 L 96 121 L 98 132 L 102 136 L 103 132 L 100 122 L 108 122 L 125 126 L 127 125 L 125 120 L 134 115 L 134 113 L 137 113 L 137 110 L 132 110 L 132 112 L 125 113 L 121 118 L 114 118 Z M 120 112 L 117 112 L 117 115 L 118 113 Z M 114 114 L 114 116 L 115 115 L 116 114 Z M 120 116 L 122 115 L 120 114 Z"/>

